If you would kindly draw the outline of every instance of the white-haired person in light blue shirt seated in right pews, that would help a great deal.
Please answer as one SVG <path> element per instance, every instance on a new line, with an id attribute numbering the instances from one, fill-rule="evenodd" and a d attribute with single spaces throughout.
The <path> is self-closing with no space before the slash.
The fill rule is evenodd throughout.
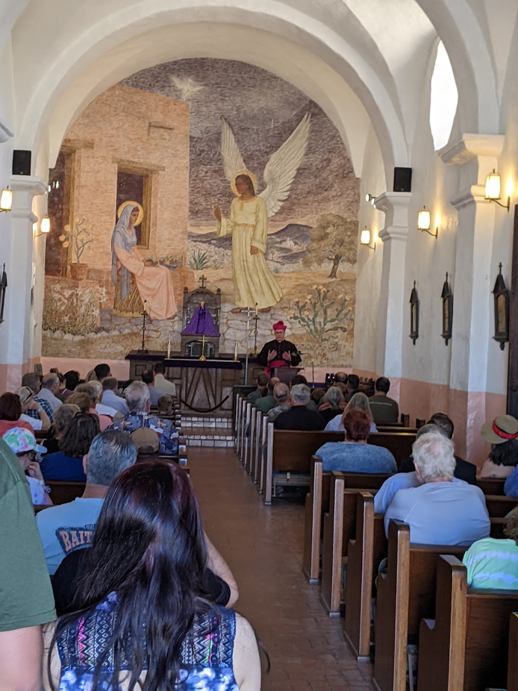
<path id="1" fill-rule="evenodd" d="M 385 511 L 385 533 L 392 519 L 410 526 L 410 542 L 419 545 L 472 545 L 486 538 L 490 520 L 482 490 L 454 480 L 453 442 L 439 430 L 412 445 L 421 484 L 400 489 Z"/>

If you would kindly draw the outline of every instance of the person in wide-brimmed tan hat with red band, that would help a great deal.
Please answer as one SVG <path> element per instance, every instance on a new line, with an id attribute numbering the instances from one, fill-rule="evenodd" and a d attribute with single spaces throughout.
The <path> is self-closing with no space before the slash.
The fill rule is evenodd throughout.
<path id="1" fill-rule="evenodd" d="M 484 442 L 491 444 L 491 451 L 479 477 L 508 477 L 518 464 L 518 420 L 512 415 L 499 415 L 485 422 L 480 433 Z"/>

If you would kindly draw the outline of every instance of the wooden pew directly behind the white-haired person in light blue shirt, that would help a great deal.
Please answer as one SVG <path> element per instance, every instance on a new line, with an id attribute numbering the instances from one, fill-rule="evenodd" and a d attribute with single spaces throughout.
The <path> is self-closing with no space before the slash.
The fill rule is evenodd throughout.
<path id="1" fill-rule="evenodd" d="M 408 636 L 416 638 L 423 617 L 433 616 L 437 556 L 462 557 L 467 547 L 410 545 L 410 527 L 391 521 L 388 569 L 377 580 L 374 684 L 379 691 L 405 691 Z"/>

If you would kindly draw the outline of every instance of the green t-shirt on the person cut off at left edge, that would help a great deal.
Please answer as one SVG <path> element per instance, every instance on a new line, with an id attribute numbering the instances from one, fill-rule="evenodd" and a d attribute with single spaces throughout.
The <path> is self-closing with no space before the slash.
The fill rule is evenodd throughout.
<path id="1" fill-rule="evenodd" d="M 0 631 L 55 618 L 29 483 L 17 457 L 0 439 Z"/>

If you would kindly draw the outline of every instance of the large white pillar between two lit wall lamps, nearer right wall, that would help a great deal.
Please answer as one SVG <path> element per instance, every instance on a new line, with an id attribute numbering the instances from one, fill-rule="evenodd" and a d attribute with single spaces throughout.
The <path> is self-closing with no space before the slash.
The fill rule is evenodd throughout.
<path id="1" fill-rule="evenodd" d="M 459 454 L 477 458 L 486 410 L 488 358 L 492 337 L 492 245 L 497 205 L 486 200 L 486 176 L 497 168 L 503 135 L 466 134 L 441 153 L 459 166 L 461 191 L 452 198 L 458 227 L 452 258 L 453 323 L 450 365 L 450 417 L 455 419 Z M 453 267 L 454 259 L 454 267 Z M 504 411 L 500 411 L 504 412 Z"/>

